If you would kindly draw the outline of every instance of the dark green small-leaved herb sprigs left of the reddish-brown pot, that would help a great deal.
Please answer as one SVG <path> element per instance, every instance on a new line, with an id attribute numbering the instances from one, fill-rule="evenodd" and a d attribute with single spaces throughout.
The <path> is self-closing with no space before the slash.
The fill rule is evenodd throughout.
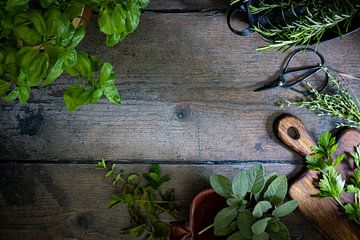
<path id="1" fill-rule="evenodd" d="M 116 170 L 116 165 L 108 166 L 105 160 L 98 163 L 98 169 L 106 171 L 105 177 L 111 177 L 116 192 L 108 200 L 113 208 L 119 204 L 127 206 L 130 214 L 130 226 L 121 231 L 144 240 L 166 240 L 170 225 L 160 220 L 163 215 L 181 219 L 178 204 L 175 202 L 175 190 L 161 190 L 163 184 L 171 180 L 169 175 L 161 177 L 160 166 L 153 164 L 148 173 L 126 173 L 125 169 Z"/>

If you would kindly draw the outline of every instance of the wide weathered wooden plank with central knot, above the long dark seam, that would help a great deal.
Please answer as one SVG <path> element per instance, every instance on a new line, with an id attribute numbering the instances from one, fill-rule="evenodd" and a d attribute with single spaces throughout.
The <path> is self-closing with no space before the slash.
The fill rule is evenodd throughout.
<path id="1" fill-rule="evenodd" d="M 359 40 L 358 31 L 319 50 L 329 65 L 360 76 Z M 313 135 L 334 127 L 306 110 L 275 107 L 298 96 L 290 90 L 252 92 L 288 53 L 256 52 L 261 38 L 232 34 L 222 14 L 144 14 L 118 46 L 103 41 L 89 29 L 81 49 L 114 65 L 123 105 L 101 100 L 67 112 L 61 96 L 74 81 L 67 76 L 33 91 L 26 106 L 1 103 L 0 159 L 300 160 L 276 141 L 275 117 L 300 116 Z M 359 92 L 356 80 L 352 86 Z"/>

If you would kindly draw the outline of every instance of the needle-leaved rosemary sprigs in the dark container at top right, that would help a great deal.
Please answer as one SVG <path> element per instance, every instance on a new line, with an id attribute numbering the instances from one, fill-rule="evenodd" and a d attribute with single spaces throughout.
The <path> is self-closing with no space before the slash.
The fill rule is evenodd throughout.
<path id="1" fill-rule="evenodd" d="M 339 36 L 346 33 L 353 18 L 358 14 L 359 2 L 350 0 L 276 0 L 256 1 L 250 5 L 253 14 L 268 14 L 278 11 L 281 18 L 266 25 L 258 24 L 254 30 L 262 36 L 273 39 L 269 45 L 257 50 L 266 51 L 274 48 L 286 51 L 292 46 L 307 46 L 311 42 L 319 43 L 326 32 L 336 32 Z"/>

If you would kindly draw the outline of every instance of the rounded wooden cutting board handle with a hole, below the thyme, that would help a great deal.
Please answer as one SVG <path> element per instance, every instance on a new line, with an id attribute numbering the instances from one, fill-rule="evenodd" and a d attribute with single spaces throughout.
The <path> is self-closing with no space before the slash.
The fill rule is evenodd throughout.
<path id="1" fill-rule="evenodd" d="M 304 123 L 294 115 L 280 116 L 275 121 L 274 130 L 285 145 L 302 156 L 311 154 L 310 147 L 316 145 Z"/>

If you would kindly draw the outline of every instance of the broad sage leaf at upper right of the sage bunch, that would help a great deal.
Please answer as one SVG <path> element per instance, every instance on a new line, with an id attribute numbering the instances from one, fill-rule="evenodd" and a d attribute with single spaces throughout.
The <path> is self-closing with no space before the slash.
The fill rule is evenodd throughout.
<path id="1" fill-rule="evenodd" d="M 264 199 L 271 202 L 273 206 L 281 203 L 287 193 L 287 179 L 285 176 L 277 177 L 264 193 Z"/>

